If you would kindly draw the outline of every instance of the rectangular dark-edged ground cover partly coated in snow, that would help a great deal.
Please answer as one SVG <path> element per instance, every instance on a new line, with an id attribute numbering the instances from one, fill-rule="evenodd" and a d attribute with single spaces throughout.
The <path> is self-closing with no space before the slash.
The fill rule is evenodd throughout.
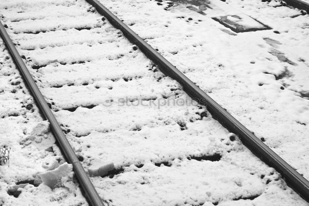
<path id="1" fill-rule="evenodd" d="M 239 32 L 257 31 L 271 29 L 269 26 L 257 21 L 246 14 L 237 14 L 231 16 L 220 16 L 212 18 L 220 24 Z"/>

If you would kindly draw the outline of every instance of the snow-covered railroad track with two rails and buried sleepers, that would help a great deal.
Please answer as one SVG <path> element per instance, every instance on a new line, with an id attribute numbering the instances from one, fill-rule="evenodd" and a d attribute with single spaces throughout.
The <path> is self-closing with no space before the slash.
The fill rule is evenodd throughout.
<path id="1" fill-rule="evenodd" d="M 91 204 L 100 205 L 100 199 L 108 205 L 128 204 L 121 199 L 121 195 L 126 194 L 128 198 L 132 195 L 129 204 L 136 204 L 138 200 L 143 205 L 216 205 L 226 200 L 269 201 L 269 197 L 264 197 L 271 195 L 267 191 L 269 187 L 274 187 L 278 194 L 291 192 L 276 171 L 252 154 L 248 156 L 248 149 L 208 111 L 257 156 L 283 173 L 287 182 L 306 197 L 307 182 L 301 175 L 141 38 L 133 39 L 138 36 L 126 31 L 121 20 L 112 20 L 111 13 L 96 6 L 99 13 L 122 32 L 83 1 L 63 1 L 57 5 L 42 1 L 40 4 L 38 7 L 22 3 L 23 8 L 11 4 L 2 20 L 44 95 L 40 98 L 38 94 L 40 101 L 36 101 L 46 111 L 51 107 L 61 124 L 59 127 L 54 121 L 52 130 L 60 139 L 61 147 L 69 149 L 68 162 L 79 167 L 75 168 L 75 174 L 85 174 L 83 168 L 87 171 L 93 160 L 112 161 L 116 166 L 104 177 L 90 178 L 99 196 L 89 192 L 93 189 L 89 182 L 81 181 Z M 50 11 L 50 6 L 55 9 Z M 51 22 L 54 16 L 57 19 Z M 16 62 L 26 68 L 20 59 Z M 178 82 L 163 75 L 157 65 Z M 205 106 L 192 102 L 184 90 L 201 104 L 206 102 L 208 111 Z M 189 100 L 191 104 L 160 104 L 170 99 Z M 44 114 L 45 118 L 49 115 Z M 220 178 L 219 173 L 223 173 Z M 191 183 L 179 184 L 183 179 Z M 212 192 L 216 185 L 219 185 L 218 194 Z M 174 188 L 180 191 L 173 193 L 176 198 L 166 195 Z M 231 189 L 223 192 L 224 188 Z M 196 190 L 207 192 L 196 194 Z M 183 196 L 183 193 L 189 195 Z M 294 193 L 287 199 L 306 204 Z"/>

